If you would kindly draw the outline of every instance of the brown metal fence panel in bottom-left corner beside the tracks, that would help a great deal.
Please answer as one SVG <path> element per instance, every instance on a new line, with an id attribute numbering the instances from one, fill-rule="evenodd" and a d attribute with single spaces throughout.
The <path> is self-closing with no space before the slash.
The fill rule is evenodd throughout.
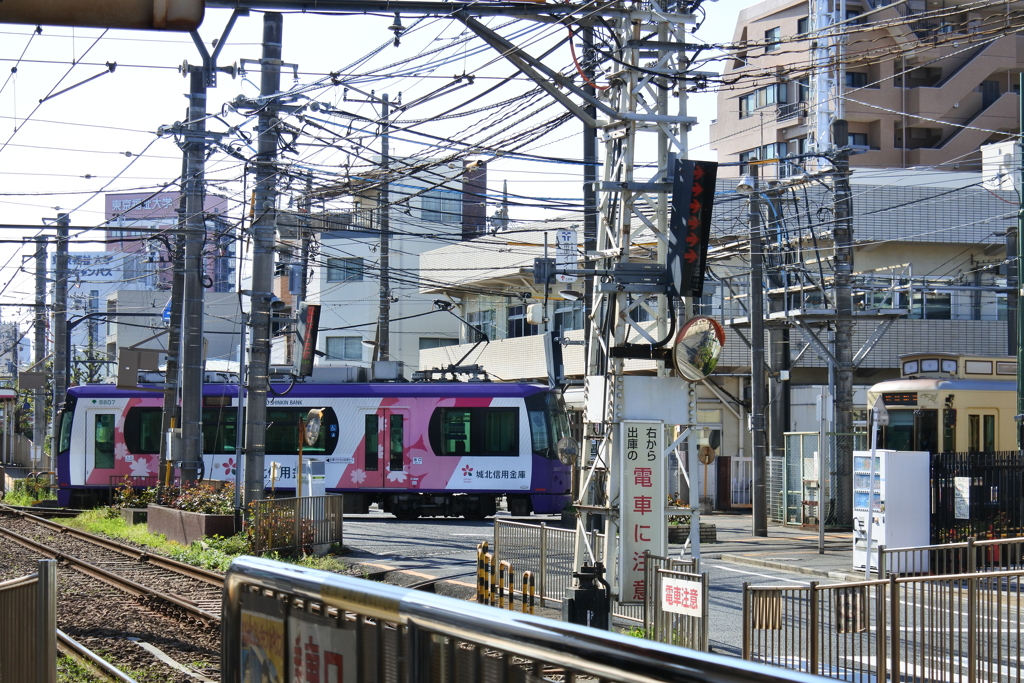
<path id="1" fill-rule="evenodd" d="M 0 680 L 56 682 L 56 560 L 39 560 L 36 573 L 0 584 Z"/>

